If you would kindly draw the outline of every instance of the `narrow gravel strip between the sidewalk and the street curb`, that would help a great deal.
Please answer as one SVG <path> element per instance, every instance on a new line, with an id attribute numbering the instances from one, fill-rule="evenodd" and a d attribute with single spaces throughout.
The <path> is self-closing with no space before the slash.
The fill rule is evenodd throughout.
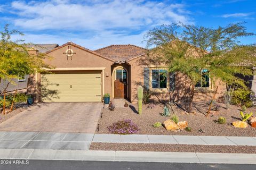
<path id="1" fill-rule="evenodd" d="M 169 145 L 152 143 L 91 143 L 90 150 L 256 154 L 256 146 Z"/>

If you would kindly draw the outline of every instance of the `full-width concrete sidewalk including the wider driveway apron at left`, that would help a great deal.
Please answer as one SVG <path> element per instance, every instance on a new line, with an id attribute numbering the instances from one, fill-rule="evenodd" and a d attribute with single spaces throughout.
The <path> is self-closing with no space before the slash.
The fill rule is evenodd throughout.
<path id="1" fill-rule="evenodd" d="M 91 142 L 256 146 L 256 137 L 0 132 L 0 149 L 89 150 Z"/>

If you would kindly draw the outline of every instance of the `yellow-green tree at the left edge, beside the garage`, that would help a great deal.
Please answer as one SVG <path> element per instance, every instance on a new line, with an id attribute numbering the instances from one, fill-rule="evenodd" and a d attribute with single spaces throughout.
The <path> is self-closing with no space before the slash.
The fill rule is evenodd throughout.
<path id="1" fill-rule="evenodd" d="M 7 80 L 14 83 L 13 79 L 22 78 L 26 74 L 41 72 L 44 68 L 50 68 L 50 65 L 44 63 L 44 59 L 49 58 L 44 54 L 31 54 L 29 48 L 23 40 L 13 41 L 11 36 L 15 34 L 23 35 L 17 30 L 9 30 L 8 24 L 4 30 L 0 31 L 0 82 Z M 8 87 L 4 87 L 4 90 Z M 0 91 L 3 94 L 4 90 Z"/>

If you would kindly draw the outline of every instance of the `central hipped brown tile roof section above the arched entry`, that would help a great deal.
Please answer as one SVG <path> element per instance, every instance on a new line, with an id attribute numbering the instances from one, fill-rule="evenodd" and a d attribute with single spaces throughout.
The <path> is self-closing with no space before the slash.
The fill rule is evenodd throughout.
<path id="1" fill-rule="evenodd" d="M 125 62 L 145 54 L 146 50 L 146 48 L 128 44 L 110 45 L 94 50 L 94 52 L 102 56 L 108 57 L 110 60 L 113 60 L 115 62 Z"/>

